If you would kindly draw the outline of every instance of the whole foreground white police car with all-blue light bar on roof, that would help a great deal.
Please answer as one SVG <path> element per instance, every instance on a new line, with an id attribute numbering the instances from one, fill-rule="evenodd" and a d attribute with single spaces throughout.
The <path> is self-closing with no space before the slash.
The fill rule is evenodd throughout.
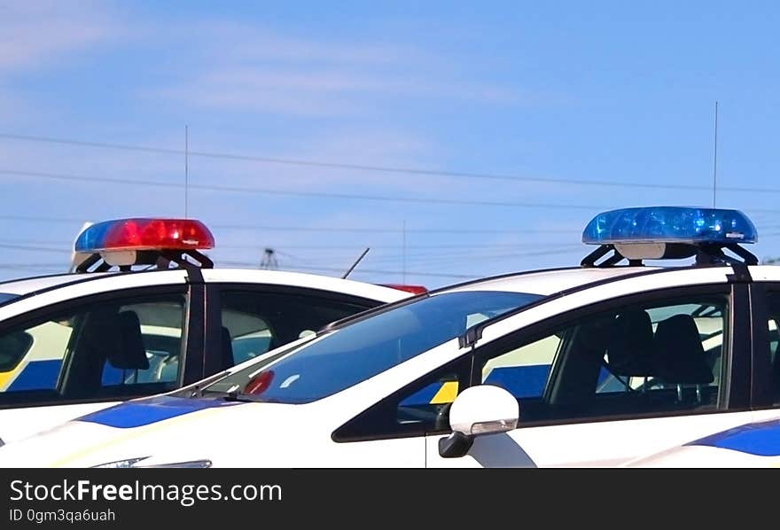
<path id="1" fill-rule="evenodd" d="M 756 238 L 736 210 L 597 214 L 577 267 L 347 317 L 0 466 L 612 466 L 780 418 L 780 267 Z"/>

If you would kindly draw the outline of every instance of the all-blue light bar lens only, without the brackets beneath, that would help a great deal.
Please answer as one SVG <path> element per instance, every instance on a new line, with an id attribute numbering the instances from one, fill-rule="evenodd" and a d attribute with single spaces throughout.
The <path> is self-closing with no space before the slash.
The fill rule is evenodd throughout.
<path id="1" fill-rule="evenodd" d="M 631 243 L 755 243 L 758 233 L 738 210 L 638 207 L 603 212 L 582 232 L 588 245 Z"/>

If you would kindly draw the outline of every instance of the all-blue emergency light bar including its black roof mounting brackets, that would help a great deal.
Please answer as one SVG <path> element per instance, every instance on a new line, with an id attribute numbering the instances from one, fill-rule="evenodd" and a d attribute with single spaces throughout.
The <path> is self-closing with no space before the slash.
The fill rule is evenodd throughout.
<path id="1" fill-rule="evenodd" d="M 582 232 L 582 242 L 601 248 L 585 260 L 595 260 L 614 250 L 607 264 L 623 258 L 641 261 L 697 256 L 697 261 L 729 262 L 728 249 L 745 259 L 757 261 L 739 244 L 755 243 L 758 232 L 753 222 L 738 210 L 698 207 L 635 207 L 597 214 Z"/>

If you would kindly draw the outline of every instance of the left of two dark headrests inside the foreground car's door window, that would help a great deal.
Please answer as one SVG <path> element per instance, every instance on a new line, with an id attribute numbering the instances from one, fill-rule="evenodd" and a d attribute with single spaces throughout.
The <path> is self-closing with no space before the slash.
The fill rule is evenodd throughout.
<path id="1" fill-rule="evenodd" d="M 620 313 L 612 323 L 607 342 L 610 371 L 617 376 L 651 376 L 653 351 L 650 315 L 642 309 Z"/>

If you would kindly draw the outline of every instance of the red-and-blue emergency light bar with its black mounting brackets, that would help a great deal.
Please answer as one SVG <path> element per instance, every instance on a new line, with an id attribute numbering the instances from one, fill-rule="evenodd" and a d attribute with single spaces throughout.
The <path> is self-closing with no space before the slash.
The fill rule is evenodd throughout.
<path id="1" fill-rule="evenodd" d="M 92 256 L 77 268 L 83 272 L 101 258 L 109 267 L 151 264 L 160 257 L 182 265 L 183 254 L 211 266 L 211 261 L 199 253 L 210 248 L 214 248 L 214 236 L 195 219 L 136 217 L 88 226 L 76 238 L 74 253 Z"/>

